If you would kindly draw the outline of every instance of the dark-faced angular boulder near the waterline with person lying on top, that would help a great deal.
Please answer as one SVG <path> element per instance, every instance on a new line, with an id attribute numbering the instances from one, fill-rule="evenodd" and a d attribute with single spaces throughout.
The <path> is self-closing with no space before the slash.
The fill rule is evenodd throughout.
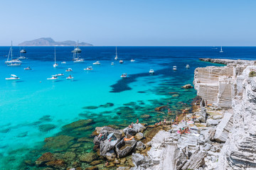
<path id="1" fill-rule="evenodd" d="M 117 152 L 117 157 L 118 158 L 125 157 L 127 154 L 129 154 L 129 152 L 132 151 L 132 149 L 134 149 L 136 143 L 137 143 L 137 141 L 134 139 L 128 140 L 128 141 L 124 141 L 124 139 L 121 140 L 115 146 L 115 151 Z"/>

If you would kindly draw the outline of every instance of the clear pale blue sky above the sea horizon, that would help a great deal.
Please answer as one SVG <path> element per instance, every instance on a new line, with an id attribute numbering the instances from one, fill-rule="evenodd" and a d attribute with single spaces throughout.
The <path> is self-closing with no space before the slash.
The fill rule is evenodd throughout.
<path id="1" fill-rule="evenodd" d="M 255 46 L 255 0 L 2 0 L 0 45 Z"/>

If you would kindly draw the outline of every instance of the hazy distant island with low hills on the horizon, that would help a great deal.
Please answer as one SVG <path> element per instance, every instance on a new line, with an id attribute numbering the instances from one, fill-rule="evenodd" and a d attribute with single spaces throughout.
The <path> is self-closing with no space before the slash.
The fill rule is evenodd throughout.
<path id="1" fill-rule="evenodd" d="M 57 42 L 53 40 L 53 38 L 38 38 L 36 40 L 31 41 L 24 41 L 18 44 L 19 46 L 75 46 L 77 45 L 77 42 L 72 40 L 66 40 L 63 42 Z M 79 42 L 79 46 L 92 46 L 91 44 L 87 42 Z"/>

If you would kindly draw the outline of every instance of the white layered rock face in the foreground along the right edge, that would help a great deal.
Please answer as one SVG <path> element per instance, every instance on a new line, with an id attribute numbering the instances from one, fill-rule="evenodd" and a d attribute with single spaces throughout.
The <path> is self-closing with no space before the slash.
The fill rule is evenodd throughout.
<path id="1" fill-rule="evenodd" d="M 233 128 L 220 152 L 218 169 L 256 169 L 256 77 L 249 72 L 256 67 L 247 67 L 241 96 L 233 99 Z"/>

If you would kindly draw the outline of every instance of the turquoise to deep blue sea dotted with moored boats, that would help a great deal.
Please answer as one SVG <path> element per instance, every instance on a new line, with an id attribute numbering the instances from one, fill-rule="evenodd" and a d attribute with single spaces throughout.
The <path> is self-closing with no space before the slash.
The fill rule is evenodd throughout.
<path id="1" fill-rule="evenodd" d="M 114 60 L 115 47 L 80 47 L 83 63 L 73 63 L 74 47 L 56 47 L 59 67 L 54 68 L 54 47 L 25 47 L 27 53 L 22 55 L 27 59 L 20 67 L 7 67 L 9 47 L 0 47 L 0 169 L 21 169 L 24 159 L 37 159 L 42 150 L 31 151 L 41 149 L 46 137 L 61 134 L 63 125 L 75 120 L 93 119 L 95 123 L 85 132 L 68 135 L 92 139 L 97 126 L 125 127 L 137 118 L 148 124 L 175 118 L 196 96 L 194 89 L 181 88 L 193 84 L 196 67 L 220 66 L 201 62 L 200 57 L 256 59 L 256 47 L 223 47 L 223 53 L 215 48 L 117 47 L 119 59 L 124 60 L 119 64 Z M 14 57 L 19 57 L 19 47 L 13 50 Z M 96 61 L 101 64 L 92 65 Z M 174 65 L 177 71 L 172 69 Z M 85 71 L 88 66 L 93 70 Z M 68 68 L 73 72 L 65 72 Z M 149 74 L 150 69 L 154 75 Z M 47 79 L 59 73 L 64 76 Z M 120 78 L 123 73 L 127 73 L 126 79 Z M 7 81 L 11 74 L 20 79 Z M 74 79 L 65 79 L 70 74 Z M 167 103 L 172 115 L 154 112 Z M 87 145 L 86 152 L 90 152 L 92 144 Z"/>

